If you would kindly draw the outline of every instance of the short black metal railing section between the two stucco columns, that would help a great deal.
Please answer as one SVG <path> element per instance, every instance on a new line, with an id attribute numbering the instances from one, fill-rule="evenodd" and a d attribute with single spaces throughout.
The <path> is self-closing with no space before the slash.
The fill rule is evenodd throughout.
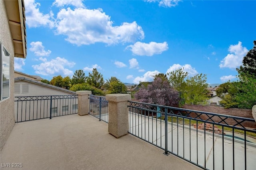
<path id="1" fill-rule="evenodd" d="M 108 123 L 108 101 L 106 97 L 90 95 L 89 114 Z"/>

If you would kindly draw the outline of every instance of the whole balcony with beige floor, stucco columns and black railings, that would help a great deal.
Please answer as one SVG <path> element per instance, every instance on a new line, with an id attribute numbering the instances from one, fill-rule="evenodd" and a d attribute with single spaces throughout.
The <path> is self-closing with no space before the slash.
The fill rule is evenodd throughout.
<path id="1" fill-rule="evenodd" d="M 15 117 L 22 123 L 16 124 L 2 150 L 1 168 L 14 163 L 36 170 L 254 169 L 254 119 L 133 102 L 129 97 L 80 91 L 78 96 L 17 98 Z"/>

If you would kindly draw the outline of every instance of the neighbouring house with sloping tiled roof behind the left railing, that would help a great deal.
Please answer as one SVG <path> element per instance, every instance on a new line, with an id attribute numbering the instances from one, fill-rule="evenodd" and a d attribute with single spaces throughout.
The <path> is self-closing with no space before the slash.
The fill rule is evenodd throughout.
<path id="1" fill-rule="evenodd" d="M 33 116 L 42 116 L 41 114 L 45 113 L 49 117 L 50 110 L 52 116 L 77 112 L 78 99 L 64 95 L 76 95 L 76 92 L 25 77 L 14 78 L 14 96 L 17 97 L 15 100 L 29 99 L 25 102 L 19 101 L 14 103 L 16 122 L 24 121 L 26 118 L 32 118 Z M 32 99 L 37 100 L 37 102 L 34 103 Z M 40 111 L 32 109 L 35 108 L 35 105 L 40 108 Z M 26 116 L 24 113 L 22 116 L 22 110 L 27 110 Z"/>

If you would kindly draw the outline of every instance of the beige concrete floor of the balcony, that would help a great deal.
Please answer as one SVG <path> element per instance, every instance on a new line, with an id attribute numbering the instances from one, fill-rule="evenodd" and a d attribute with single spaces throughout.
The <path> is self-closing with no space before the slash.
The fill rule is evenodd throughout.
<path id="1" fill-rule="evenodd" d="M 86 115 L 18 123 L 0 155 L 0 169 L 198 170 L 130 134 L 116 139 L 108 124 Z M 22 163 L 22 168 L 3 167 Z"/>

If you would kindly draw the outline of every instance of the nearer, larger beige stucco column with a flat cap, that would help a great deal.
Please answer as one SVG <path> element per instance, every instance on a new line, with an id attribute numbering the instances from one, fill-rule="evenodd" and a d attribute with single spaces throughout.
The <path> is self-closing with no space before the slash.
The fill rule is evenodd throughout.
<path id="1" fill-rule="evenodd" d="M 108 132 L 120 138 L 128 134 L 128 100 L 131 100 L 130 94 L 107 94 L 108 100 Z"/>

